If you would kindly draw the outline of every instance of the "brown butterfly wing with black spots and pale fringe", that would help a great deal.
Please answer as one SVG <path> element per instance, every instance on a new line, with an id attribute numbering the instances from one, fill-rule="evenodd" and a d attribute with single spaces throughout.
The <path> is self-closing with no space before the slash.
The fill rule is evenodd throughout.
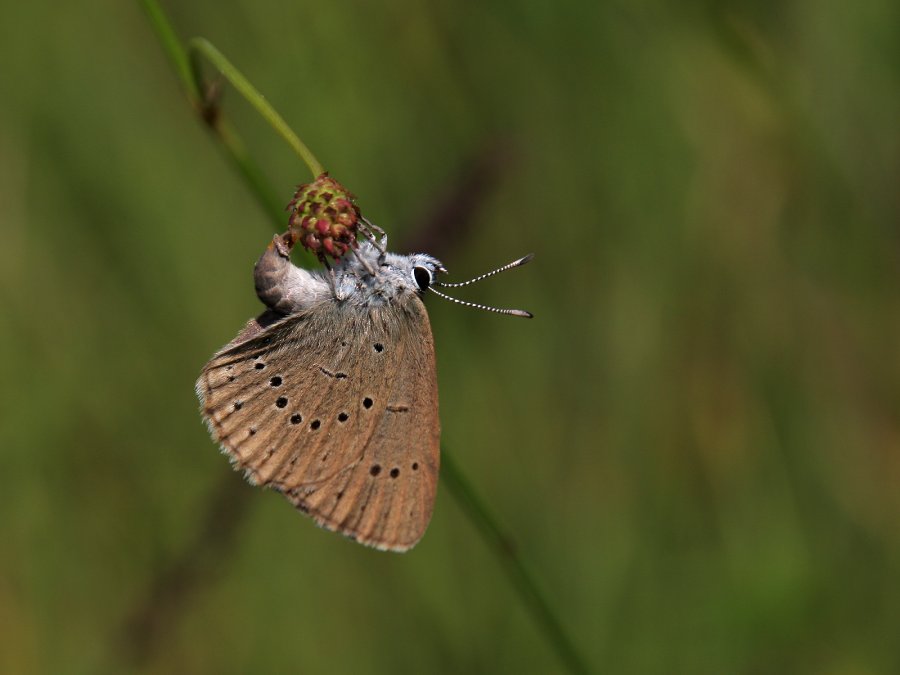
<path id="1" fill-rule="evenodd" d="M 264 315 L 265 316 L 265 315 Z M 425 306 L 329 301 L 251 321 L 197 381 L 233 464 L 319 525 L 368 546 L 412 547 L 434 506 L 440 423 Z"/>

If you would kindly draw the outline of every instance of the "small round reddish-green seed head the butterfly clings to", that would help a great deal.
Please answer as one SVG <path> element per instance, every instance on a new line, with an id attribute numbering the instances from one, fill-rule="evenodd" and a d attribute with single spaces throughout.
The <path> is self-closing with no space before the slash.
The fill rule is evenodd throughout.
<path id="1" fill-rule="evenodd" d="M 312 183 L 300 185 L 288 204 L 288 227 L 295 241 L 315 252 L 340 260 L 350 247 L 362 218 L 355 197 L 334 178 L 323 173 Z"/>

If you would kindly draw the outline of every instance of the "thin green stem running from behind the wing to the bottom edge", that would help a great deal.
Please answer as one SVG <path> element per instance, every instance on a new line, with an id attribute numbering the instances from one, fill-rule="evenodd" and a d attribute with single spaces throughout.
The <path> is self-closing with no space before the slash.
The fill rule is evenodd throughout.
<path id="1" fill-rule="evenodd" d="M 471 483 L 463 475 L 453 456 L 443 448 L 441 479 L 506 570 L 510 583 L 531 612 L 538 628 L 556 650 L 557 656 L 572 673 L 590 672 L 587 662 L 575 648 L 575 644 L 516 551 L 512 539 L 500 528 L 497 519 L 472 489 Z"/>

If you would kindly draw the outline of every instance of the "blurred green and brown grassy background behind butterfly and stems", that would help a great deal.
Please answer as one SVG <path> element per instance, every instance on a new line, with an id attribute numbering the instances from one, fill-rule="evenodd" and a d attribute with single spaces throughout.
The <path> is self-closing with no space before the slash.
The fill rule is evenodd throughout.
<path id="1" fill-rule="evenodd" d="M 3 4 L 0 671 L 562 672 L 446 485 L 391 555 L 232 473 L 273 228 L 136 2 Z M 592 669 L 900 672 L 900 5 L 165 7 L 392 248 L 536 253 L 429 298 L 443 439 Z"/>

